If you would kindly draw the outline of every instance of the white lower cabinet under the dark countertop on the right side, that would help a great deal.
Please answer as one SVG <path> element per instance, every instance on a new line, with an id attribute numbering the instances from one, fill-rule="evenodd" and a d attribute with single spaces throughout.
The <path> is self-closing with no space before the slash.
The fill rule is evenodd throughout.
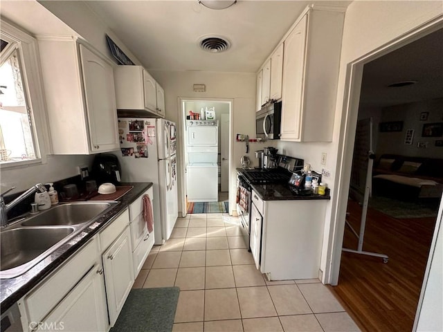
<path id="1" fill-rule="evenodd" d="M 251 252 L 260 272 L 270 280 L 318 278 L 327 201 L 252 197 Z"/>

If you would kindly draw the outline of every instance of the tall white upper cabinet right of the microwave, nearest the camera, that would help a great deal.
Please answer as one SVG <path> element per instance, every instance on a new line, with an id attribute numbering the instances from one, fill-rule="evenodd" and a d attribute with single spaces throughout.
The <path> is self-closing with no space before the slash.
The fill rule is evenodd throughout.
<path id="1" fill-rule="evenodd" d="M 343 19 L 310 8 L 284 40 L 281 140 L 332 141 Z"/>

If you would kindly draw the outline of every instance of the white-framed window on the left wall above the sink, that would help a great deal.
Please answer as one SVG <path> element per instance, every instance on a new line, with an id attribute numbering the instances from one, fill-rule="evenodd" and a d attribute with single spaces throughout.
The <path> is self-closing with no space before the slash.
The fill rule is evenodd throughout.
<path id="1" fill-rule="evenodd" d="M 2 21 L 0 167 L 41 163 L 48 146 L 35 39 Z"/>

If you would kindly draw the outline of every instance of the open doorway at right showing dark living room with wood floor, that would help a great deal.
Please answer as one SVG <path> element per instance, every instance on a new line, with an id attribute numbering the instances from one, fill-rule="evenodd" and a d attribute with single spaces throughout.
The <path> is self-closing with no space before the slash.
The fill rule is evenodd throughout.
<path id="1" fill-rule="evenodd" d="M 428 33 L 363 66 L 350 250 L 332 291 L 366 331 L 413 329 L 443 191 L 442 39 Z"/>

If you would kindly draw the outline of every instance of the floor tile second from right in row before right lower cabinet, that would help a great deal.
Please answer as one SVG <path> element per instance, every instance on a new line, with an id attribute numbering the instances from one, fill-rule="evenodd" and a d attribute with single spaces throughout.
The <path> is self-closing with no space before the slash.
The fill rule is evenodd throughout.
<path id="1" fill-rule="evenodd" d="M 268 286 L 268 291 L 278 315 L 312 313 L 296 284 Z"/>

